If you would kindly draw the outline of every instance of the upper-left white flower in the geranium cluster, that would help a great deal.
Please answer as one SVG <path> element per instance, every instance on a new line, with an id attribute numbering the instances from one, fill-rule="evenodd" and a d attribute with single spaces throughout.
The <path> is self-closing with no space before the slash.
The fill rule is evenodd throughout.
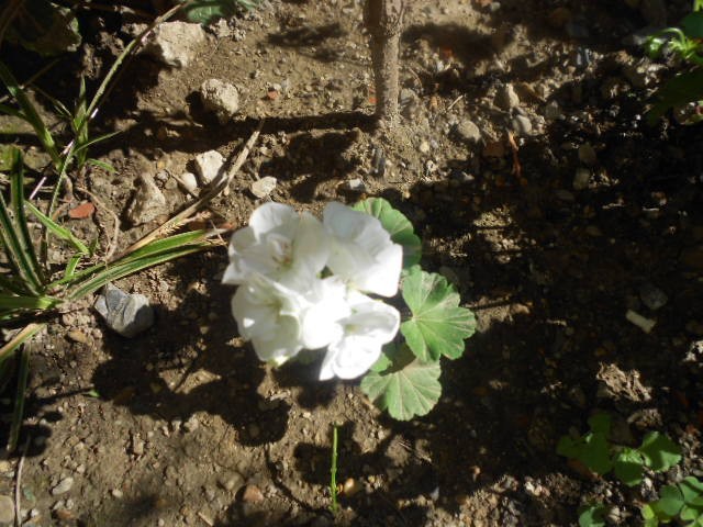
<path id="1" fill-rule="evenodd" d="M 230 242 L 230 266 L 223 283 L 242 284 L 258 272 L 297 290 L 309 287 L 330 255 L 330 242 L 320 221 L 289 205 L 260 205 Z"/>

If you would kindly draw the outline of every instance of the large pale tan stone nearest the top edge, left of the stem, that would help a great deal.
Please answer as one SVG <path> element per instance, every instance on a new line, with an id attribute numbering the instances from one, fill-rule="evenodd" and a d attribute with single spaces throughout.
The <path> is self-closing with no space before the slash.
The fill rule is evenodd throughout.
<path id="1" fill-rule="evenodd" d="M 196 57 L 198 46 L 205 42 L 205 32 L 200 24 L 164 22 L 149 37 L 145 53 L 161 63 L 185 68 Z"/>

